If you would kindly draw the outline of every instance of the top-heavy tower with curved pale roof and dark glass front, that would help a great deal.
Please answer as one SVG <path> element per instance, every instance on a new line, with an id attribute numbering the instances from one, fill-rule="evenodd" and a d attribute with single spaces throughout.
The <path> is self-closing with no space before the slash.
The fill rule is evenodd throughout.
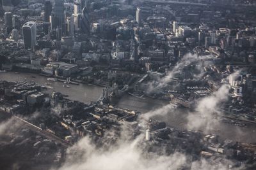
<path id="1" fill-rule="evenodd" d="M 35 50 L 36 45 L 36 23 L 27 22 L 22 27 L 25 49 Z"/>

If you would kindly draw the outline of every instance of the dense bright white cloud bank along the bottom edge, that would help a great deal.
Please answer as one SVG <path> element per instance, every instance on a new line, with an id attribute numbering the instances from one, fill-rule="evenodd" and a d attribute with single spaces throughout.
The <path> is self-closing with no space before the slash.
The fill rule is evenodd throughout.
<path id="1" fill-rule="evenodd" d="M 186 164 L 186 157 L 182 153 L 170 156 L 147 155 L 143 147 L 140 147 L 141 139 L 140 136 L 132 141 L 118 141 L 109 150 L 102 150 L 85 137 L 68 150 L 68 160 L 60 169 L 166 170 L 177 169 Z"/>

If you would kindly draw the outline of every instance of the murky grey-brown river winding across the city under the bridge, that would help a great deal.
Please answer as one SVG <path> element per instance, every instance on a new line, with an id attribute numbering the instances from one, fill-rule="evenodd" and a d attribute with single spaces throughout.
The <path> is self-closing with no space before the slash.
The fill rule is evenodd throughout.
<path id="1" fill-rule="evenodd" d="M 45 82 L 51 83 L 47 85 L 52 87 L 52 89 L 44 90 L 45 93 L 50 94 L 53 91 L 61 92 L 62 94 L 68 95 L 68 99 L 81 101 L 83 103 L 90 103 L 91 101 L 97 101 L 102 94 L 103 87 L 95 85 L 69 85 L 70 88 L 63 87 L 64 83 L 57 81 L 49 81 L 47 77 L 40 76 L 39 74 L 33 73 L 14 73 L 7 72 L 0 74 L 0 80 L 6 81 L 29 81 L 35 82 L 39 85 L 45 85 Z M 127 108 L 130 110 L 140 111 L 141 113 L 147 113 L 148 111 L 154 113 L 159 108 L 163 108 L 168 105 L 168 101 L 161 101 L 157 99 L 139 99 L 133 96 L 125 94 L 116 104 L 117 107 Z M 166 122 L 170 127 L 175 127 L 177 129 L 188 129 L 188 111 L 184 109 L 170 110 L 167 114 L 155 115 L 154 118 L 160 121 Z M 200 119 L 196 118 L 200 122 Z M 200 127 L 199 131 L 205 132 L 205 127 Z M 221 139 L 232 139 L 234 141 L 241 141 L 246 143 L 256 142 L 256 126 L 255 124 L 248 124 L 247 127 L 239 127 L 233 124 L 227 124 L 219 120 L 211 120 L 211 129 L 209 133 L 218 134 Z"/>

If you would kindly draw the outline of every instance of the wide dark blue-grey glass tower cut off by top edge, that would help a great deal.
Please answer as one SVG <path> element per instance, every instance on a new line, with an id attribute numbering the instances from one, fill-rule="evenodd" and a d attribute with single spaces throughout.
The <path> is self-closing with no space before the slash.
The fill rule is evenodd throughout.
<path id="1" fill-rule="evenodd" d="M 61 27 L 64 22 L 64 3 L 63 0 L 54 0 L 54 8 L 50 17 L 52 29 Z"/>

